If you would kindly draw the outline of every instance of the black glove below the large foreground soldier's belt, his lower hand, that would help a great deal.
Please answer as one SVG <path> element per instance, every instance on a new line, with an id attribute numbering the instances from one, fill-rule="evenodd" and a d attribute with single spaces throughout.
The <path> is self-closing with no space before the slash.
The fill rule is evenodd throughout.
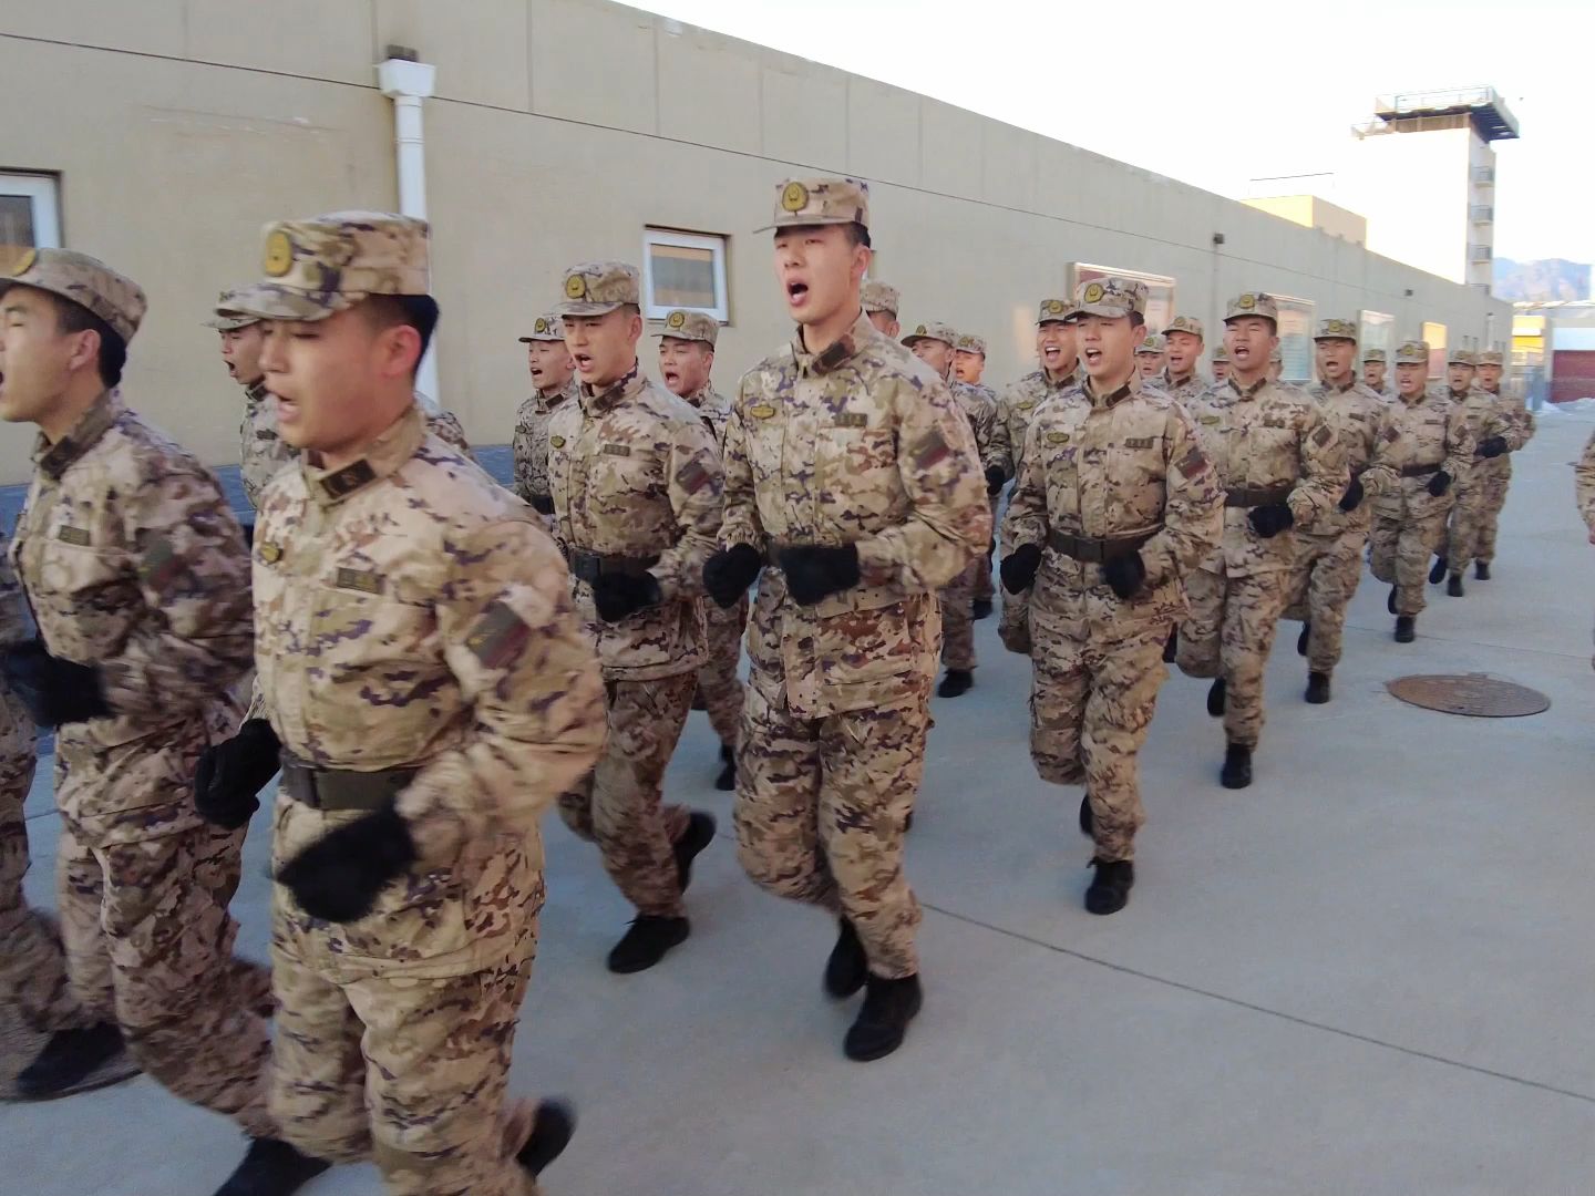
<path id="1" fill-rule="evenodd" d="M 388 805 L 317 839 L 278 869 L 278 882 L 313 919 L 354 922 L 415 860 L 410 828 Z"/>

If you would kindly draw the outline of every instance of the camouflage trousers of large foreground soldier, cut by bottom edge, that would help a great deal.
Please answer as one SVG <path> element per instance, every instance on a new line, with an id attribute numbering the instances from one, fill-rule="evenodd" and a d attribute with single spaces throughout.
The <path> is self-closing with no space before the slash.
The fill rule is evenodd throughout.
<path id="1" fill-rule="evenodd" d="M 515 1163 L 531 1124 L 506 1102 L 542 890 L 509 955 L 461 976 L 346 968 L 276 917 L 271 1111 L 335 1163 L 372 1159 L 399 1196 L 536 1196 Z"/>

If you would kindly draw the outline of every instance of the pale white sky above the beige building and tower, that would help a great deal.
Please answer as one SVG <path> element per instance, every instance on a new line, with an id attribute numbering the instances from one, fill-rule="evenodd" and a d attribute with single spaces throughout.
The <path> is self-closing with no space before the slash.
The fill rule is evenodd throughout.
<path id="1" fill-rule="evenodd" d="M 1592 0 L 632 3 L 1233 198 L 1333 171 L 1381 92 L 1488 85 L 1522 129 L 1495 144 L 1496 255 L 1595 262 Z"/>

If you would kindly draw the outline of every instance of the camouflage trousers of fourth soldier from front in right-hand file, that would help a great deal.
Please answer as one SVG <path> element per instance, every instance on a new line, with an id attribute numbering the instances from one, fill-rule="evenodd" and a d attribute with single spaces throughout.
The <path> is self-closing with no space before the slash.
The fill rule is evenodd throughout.
<path id="1" fill-rule="evenodd" d="M 1284 572 L 1227 577 L 1207 569 L 1185 582 L 1190 616 L 1180 624 L 1180 671 L 1223 678 L 1223 734 L 1243 748 L 1255 748 L 1263 735 L 1263 668 L 1289 584 Z"/>

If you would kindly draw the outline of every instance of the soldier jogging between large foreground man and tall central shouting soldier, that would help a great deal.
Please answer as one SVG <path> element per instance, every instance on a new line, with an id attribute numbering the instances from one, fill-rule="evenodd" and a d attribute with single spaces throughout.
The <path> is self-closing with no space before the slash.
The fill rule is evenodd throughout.
<path id="1" fill-rule="evenodd" d="M 721 517 L 719 445 L 702 413 L 636 360 L 640 274 L 589 262 L 565 274 L 565 344 L 582 388 L 549 421 L 553 517 L 576 576 L 576 609 L 609 697 L 598 767 L 560 796 L 636 907 L 609 970 L 643 971 L 686 941 L 692 858 L 715 820 L 662 805 L 665 765 L 692 708 L 703 646 L 703 561 Z"/>

